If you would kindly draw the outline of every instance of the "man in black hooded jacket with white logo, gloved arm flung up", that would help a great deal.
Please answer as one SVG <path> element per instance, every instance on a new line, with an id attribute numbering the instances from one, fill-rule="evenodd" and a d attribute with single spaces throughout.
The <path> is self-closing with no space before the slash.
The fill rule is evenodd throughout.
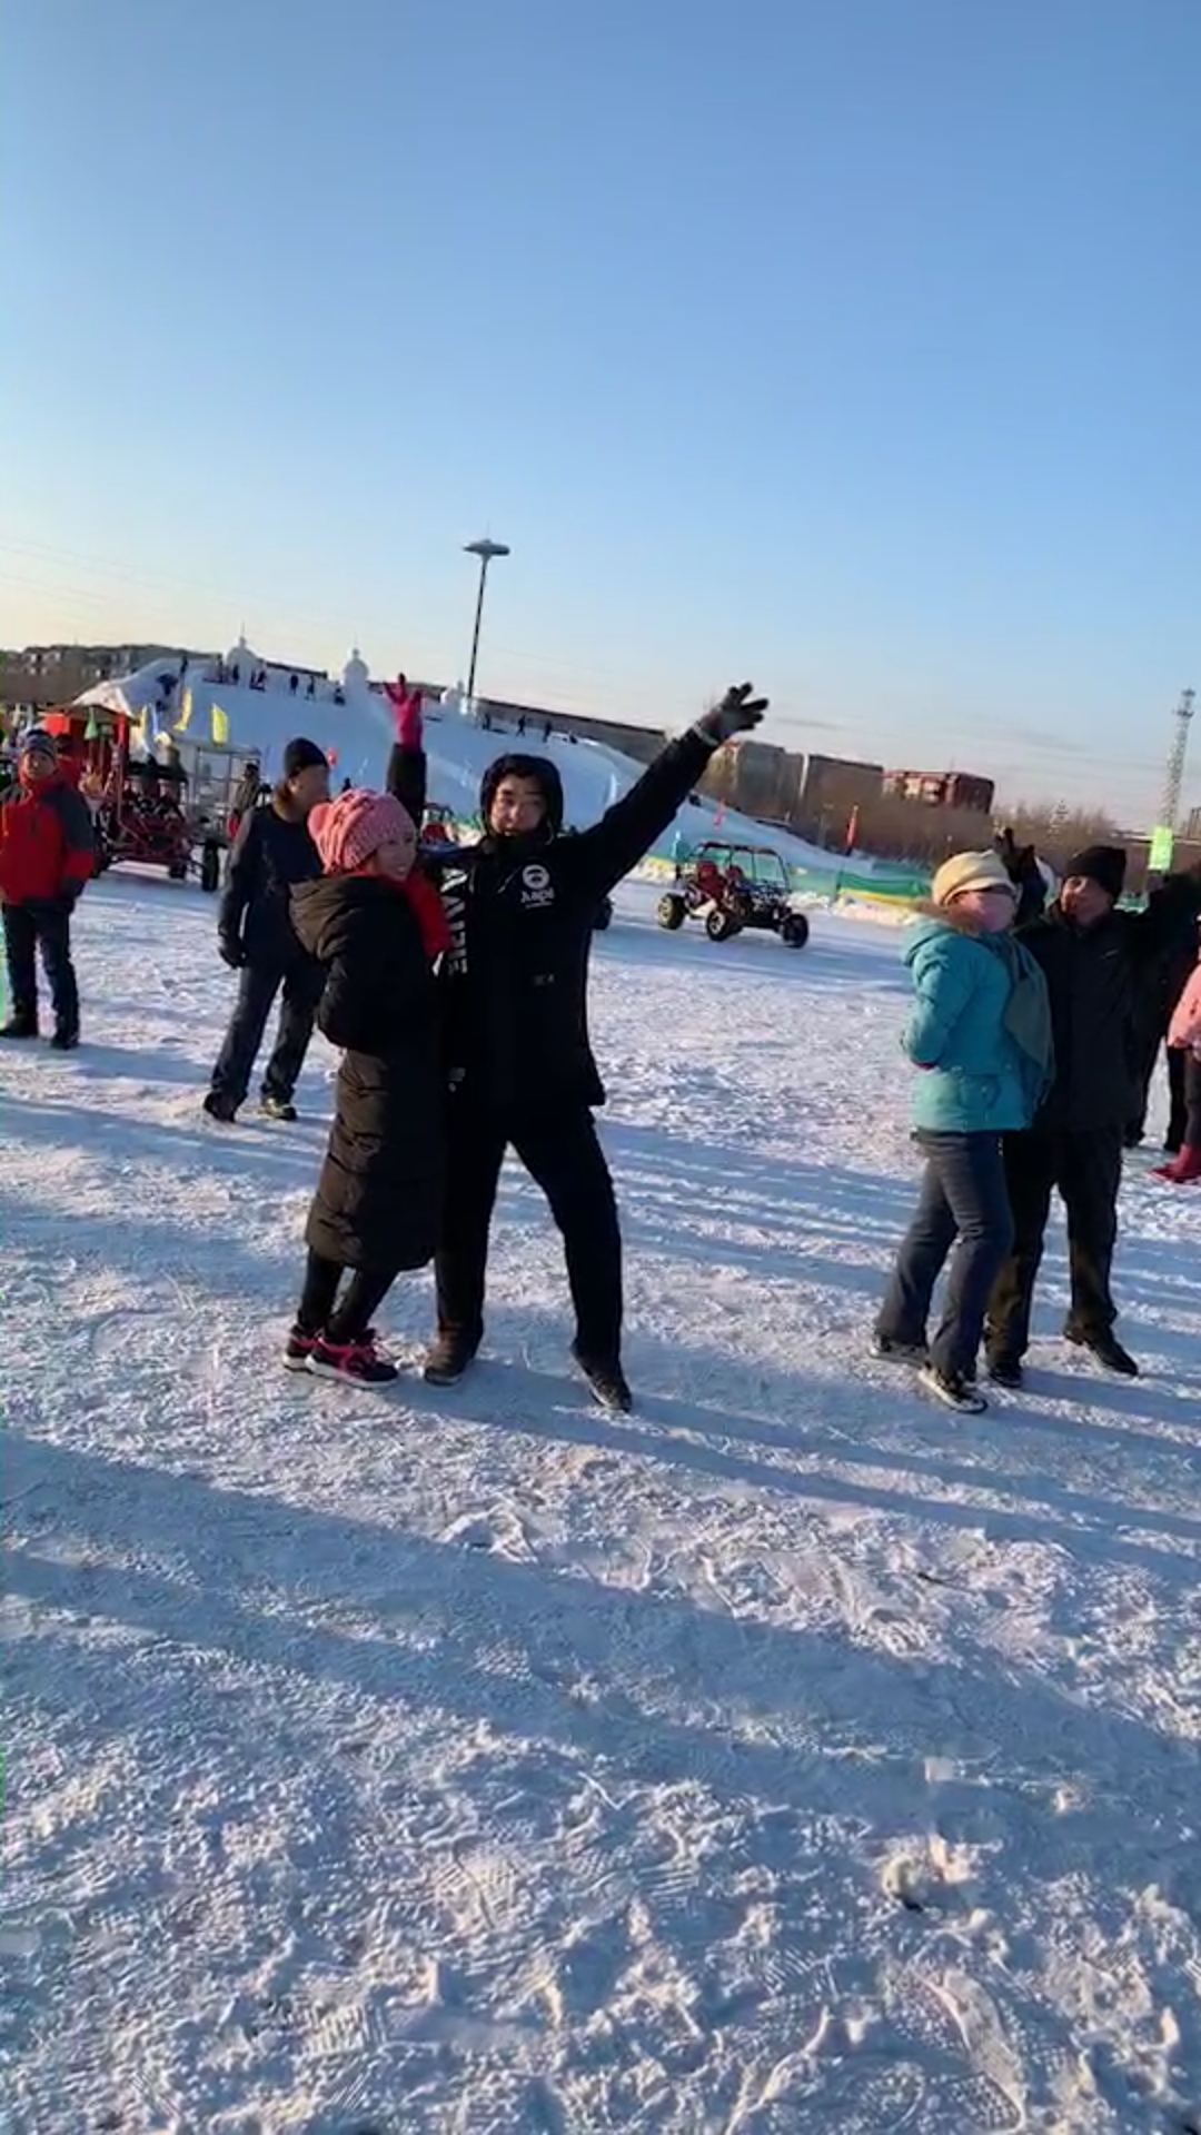
<path id="1" fill-rule="evenodd" d="M 600 899 L 635 867 L 722 741 L 759 726 L 767 700 L 729 690 L 592 828 L 564 835 L 558 766 L 500 756 L 481 786 L 485 835 L 434 848 L 451 924 L 447 1202 L 436 1255 L 438 1334 L 425 1377 L 453 1386 L 483 1337 L 487 1234 L 504 1151 L 536 1179 L 562 1232 L 575 1304 L 573 1356 L 596 1396 L 630 1407 L 622 1371 L 622 1234 L 592 1108 L 605 1089 L 588 1038 L 588 952 Z M 397 711 L 389 788 L 421 820 L 419 713 Z"/>

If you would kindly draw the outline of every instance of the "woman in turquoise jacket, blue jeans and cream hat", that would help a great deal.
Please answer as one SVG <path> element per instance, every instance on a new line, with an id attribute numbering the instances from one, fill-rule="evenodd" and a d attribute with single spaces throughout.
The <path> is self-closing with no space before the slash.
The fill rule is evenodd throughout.
<path id="1" fill-rule="evenodd" d="M 1051 1074 L 1047 986 L 1013 939 L 1017 892 L 994 852 L 960 852 L 934 875 L 906 933 L 915 1003 L 902 1046 L 921 1070 L 915 1140 L 925 1174 L 876 1319 L 874 1351 L 921 1366 L 923 1386 L 979 1413 L 977 1356 L 992 1285 L 1013 1245 L 1002 1134 L 1030 1127 Z M 934 1337 L 934 1285 L 951 1258 Z"/>

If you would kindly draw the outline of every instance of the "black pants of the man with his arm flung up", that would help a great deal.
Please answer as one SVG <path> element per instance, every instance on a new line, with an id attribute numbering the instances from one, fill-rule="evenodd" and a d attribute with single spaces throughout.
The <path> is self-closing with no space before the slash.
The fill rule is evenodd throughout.
<path id="1" fill-rule="evenodd" d="M 609 1166 L 588 1106 L 498 1112 L 470 1093 L 449 1100 L 447 1202 L 434 1262 L 438 1328 L 479 1341 L 487 1230 L 504 1151 L 513 1144 L 562 1232 L 581 1351 L 615 1362 L 622 1347 L 622 1232 Z"/>

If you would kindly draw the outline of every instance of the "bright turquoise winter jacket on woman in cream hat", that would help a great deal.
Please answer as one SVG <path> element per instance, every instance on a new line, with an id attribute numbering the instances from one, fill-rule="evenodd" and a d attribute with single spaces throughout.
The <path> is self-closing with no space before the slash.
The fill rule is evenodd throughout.
<path id="1" fill-rule="evenodd" d="M 947 914 L 906 933 L 915 1006 L 902 1046 L 917 1068 L 913 1123 L 925 1134 L 1028 1127 L 1051 1076 L 1047 982 L 1013 935 Z"/>

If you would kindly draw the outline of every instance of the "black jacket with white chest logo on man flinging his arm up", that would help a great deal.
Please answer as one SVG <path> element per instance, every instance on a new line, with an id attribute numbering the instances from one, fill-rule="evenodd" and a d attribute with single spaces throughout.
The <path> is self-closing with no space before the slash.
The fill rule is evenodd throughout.
<path id="1" fill-rule="evenodd" d="M 588 831 L 423 850 L 453 935 L 442 959 L 451 1087 L 466 1085 L 504 1110 L 605 1104 L 588 1038 L 596 907 L 667 828 L 712 752 L 697 732 L 671 741 Z M 421 822 L 421 752 L 393 747 L 389 790 Z"/>

